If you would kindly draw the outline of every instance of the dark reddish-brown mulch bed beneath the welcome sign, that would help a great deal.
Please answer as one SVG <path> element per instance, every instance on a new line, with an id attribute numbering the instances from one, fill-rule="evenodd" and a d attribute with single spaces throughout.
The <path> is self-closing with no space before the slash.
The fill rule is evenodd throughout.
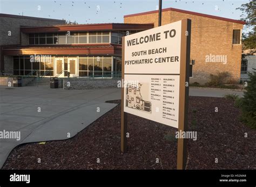
<path id="1" fill-rule="evenodd" d="M 197 131 L 197 140 L 188 140 L 187 169 L 256 169 L 256 131 L 242 124 L 239 115 L 232 100 L 190 97 L 188 125 Z M 69 140 L 16 147 L 2 169 L 176 169 L 177 141 L 165 136 L 174 135 L 176 128 L 131 114 L 128 121 L 125 154 L 120 152 L 118 105 Z"/>

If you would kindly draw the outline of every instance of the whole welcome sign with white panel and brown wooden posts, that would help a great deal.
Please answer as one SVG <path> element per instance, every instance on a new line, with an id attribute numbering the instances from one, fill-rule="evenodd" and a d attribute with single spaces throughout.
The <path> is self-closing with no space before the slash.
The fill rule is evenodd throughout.
<path id="1" fill-rule="evenodd" d="M 122 152 L 127 149 L 127 113 L 187 131 L 190 39 L 190 19 L 122 38 Z M 177 169 L 186 168 L 186 145 L 180 136 Z"/>

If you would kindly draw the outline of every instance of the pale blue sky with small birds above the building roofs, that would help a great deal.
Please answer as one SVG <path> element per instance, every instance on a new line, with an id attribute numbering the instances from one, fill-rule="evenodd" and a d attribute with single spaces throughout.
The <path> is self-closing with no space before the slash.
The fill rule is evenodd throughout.
<path id="1" fill-rule="evenodd" d="M 231 19 L 250 0 L 163 0 L 163 8 L 176 8 Z M 0 0 L 0 13 L 65 19 L 79 24 L 123 23 L 124 15 L 158 9 L 158 0 Z"/>

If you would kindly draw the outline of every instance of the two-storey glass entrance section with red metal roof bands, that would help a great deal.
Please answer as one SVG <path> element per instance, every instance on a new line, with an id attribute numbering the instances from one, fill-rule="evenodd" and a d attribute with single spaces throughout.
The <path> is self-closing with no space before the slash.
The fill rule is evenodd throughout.
<path id="1" fill-rule="evenodd" d="M 4 73 L 58 77 L 116 77 L 122 37 L 152 24 L 21 26 L 20 45 L 2 47 Z"/>

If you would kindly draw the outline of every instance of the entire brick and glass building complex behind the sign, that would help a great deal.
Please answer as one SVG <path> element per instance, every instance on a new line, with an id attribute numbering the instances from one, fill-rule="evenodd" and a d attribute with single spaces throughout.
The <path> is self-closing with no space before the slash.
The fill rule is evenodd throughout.
<path id="1" fill-rule="evenodd" d="M 190 82 L 227 71 L 241 77 L 244 21 L 163 9 L 162 24 L 189 18 Z M 1 15 L 1 72 L 7 75 L 115 77 L 122 66 L 122 37 L 158 26 L 158 11 L 124 16 L 124 24 L 65 25 L 64 20 Z M 38 26 L 40 25 L 40 26 Z M 11 35 L 9 35 L 11 32 Z"/>

